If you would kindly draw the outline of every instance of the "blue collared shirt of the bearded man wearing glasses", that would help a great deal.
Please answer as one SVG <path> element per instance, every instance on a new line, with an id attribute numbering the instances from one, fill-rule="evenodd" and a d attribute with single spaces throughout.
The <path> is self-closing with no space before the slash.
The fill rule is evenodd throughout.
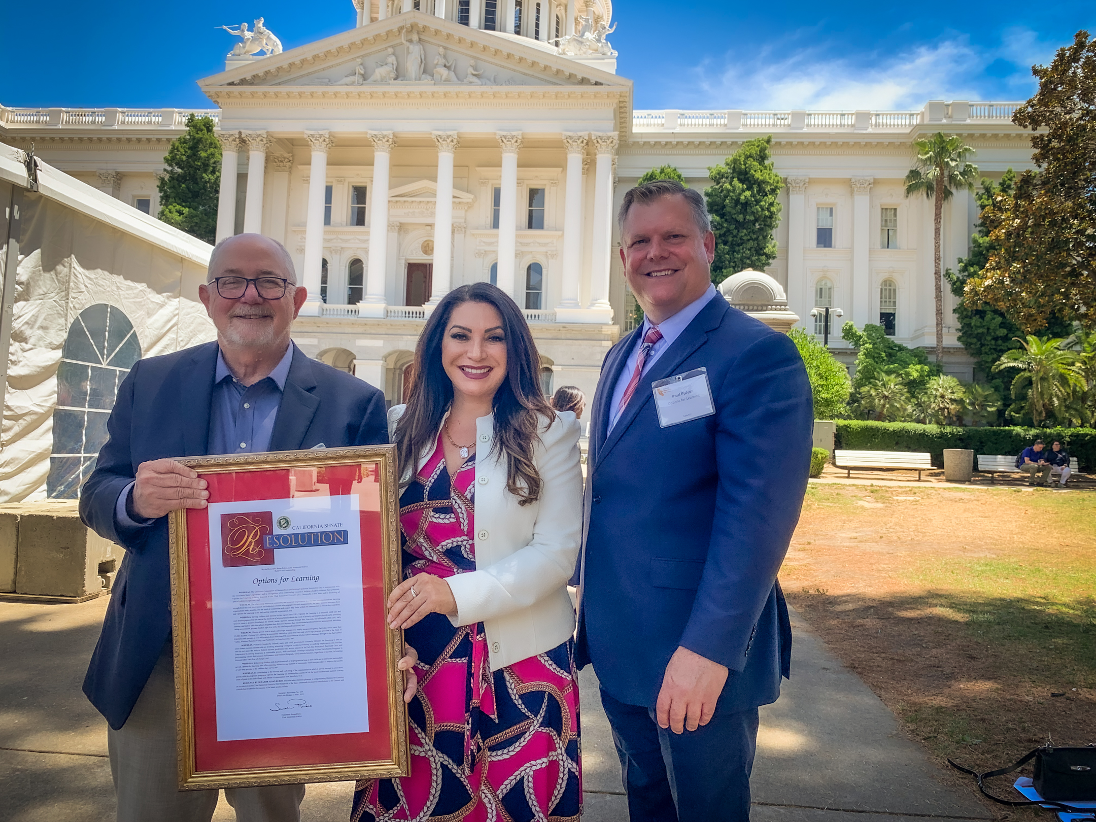
<path id="1" fill-rule="evenodd" d="M 289 376 L 295 347 L 290 342 L 274 370 L 251 386 L 246 386 L 233 377 L 225 362 L 225 355 L 217 352 L 213 397 L 209 400 L 210 455 L 259 454 L 270 450 L 274 420 L 282 407 L 282 392 Z M 124 528 L 151 525 L 156 520 L 135 521 L 126 511 L 126 501 L 133 487 L 134 482 L 130 482 L 118 494 L 114 518 Z"/>

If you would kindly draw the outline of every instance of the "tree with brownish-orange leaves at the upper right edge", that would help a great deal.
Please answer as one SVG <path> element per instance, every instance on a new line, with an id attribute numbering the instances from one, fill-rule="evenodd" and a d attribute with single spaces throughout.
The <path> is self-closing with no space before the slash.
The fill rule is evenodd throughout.
<path id="1" fill-rule="evenodd" d="M 1096 41 L 1077 32 L 1050 66 L 1031 69 L 1039 90 L 1013 122 L 1030 128 L 1031 159 L 1015 192 L 998 192 L 982 220 L 996 243 L 967 299 L 989 302 L 1025 333 L 1059 313 L 1092 326 L 1096 306 Z"/>

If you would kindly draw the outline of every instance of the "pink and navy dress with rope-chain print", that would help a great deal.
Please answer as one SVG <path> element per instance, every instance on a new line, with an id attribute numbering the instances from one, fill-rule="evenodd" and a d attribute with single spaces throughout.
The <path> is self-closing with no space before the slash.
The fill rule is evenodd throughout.
<path id="1" fill-rule="evenodd" d="M 476 570 L 472 455 L 450 482 L 438 436 L 400 498 L 403 575 Z M 411 774 L 365 779 L 358 820 L 578 820 L 579 684 L 571 640 L 492 673 L 483 625 L 430 614 L 406 632 L 419 652 L 408 706 Z"/>

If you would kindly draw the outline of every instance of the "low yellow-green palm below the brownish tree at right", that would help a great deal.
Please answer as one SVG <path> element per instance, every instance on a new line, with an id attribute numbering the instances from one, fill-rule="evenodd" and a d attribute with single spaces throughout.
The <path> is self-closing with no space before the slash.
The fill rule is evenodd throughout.
<path id="1" fill-rule="evenodd" d="M 1065 341 L 1060 338 L 1051 340 L 1028 334 L 1027 340 L 1013 339 L 1024 347 L 1006 351 L 993 370 L 1019 369 L 1013 379 L 1013 399 L 1019 400 L 1028 388 L 1027 410 L 1038 426 L 1069 402 L 1073 389 L 1084 390 L 1077 355 L 1063 349 Z"/>

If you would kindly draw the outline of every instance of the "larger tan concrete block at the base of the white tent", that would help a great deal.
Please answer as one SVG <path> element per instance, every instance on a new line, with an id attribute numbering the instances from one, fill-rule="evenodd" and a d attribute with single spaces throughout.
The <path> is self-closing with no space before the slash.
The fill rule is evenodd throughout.
<path id="1" fill-rule="evenodd" d="M 75 502 L 43 503 L 20 514 L 15 592 L 31 596 L 98 594 L 110 587 L 122 549 L 80 522 Z"/>

